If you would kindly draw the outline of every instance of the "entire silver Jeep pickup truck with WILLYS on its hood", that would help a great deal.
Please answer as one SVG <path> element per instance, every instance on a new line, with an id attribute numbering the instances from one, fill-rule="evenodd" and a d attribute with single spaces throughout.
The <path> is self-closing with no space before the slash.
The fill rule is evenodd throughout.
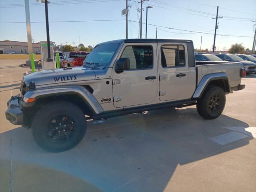
<path id="1" fill-rule="evenodd" d="M 8 101 L 6 119 L 32 128 L 50 152 L 73 148 L 93 120 L 169 107 L 196 105 L 214 119 L 226 94 L 244 89 L 239 62 L 195 62 L 191 40 L 126 39 L 100 43 L 84 66 L 24 75 Z"/>

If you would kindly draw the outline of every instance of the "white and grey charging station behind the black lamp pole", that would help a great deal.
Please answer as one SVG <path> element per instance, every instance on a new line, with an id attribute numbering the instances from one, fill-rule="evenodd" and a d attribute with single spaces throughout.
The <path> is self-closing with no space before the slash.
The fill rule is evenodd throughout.
<path id="1" fill-rule="evenodd" d="M 52 61 L 47 61 L 47 58 L 48 58 L 47 41 L 40 41 L 43 70 L 56 68 L 55 61 L 54 61 L 53 44 L 54 42 L 50 41 L 50 53 L 51 53 Z"/>

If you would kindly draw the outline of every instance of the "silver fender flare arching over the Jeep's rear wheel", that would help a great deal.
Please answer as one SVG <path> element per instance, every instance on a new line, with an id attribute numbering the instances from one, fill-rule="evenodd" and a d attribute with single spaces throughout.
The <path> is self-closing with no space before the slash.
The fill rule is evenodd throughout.
<path id="1" fill-rule="evenodd" d="M 226 73 L 213 73 L 213 74 L 207 74 L 201 79 L 192 98 L 195 98 L 195 99 L 200 98 L 204 90 L 206 89 L 207 85 L 213 80 L 224 80 L 224 82 L 226 82 L 225 83 L 226 91 L 229 93 L 232 93 L 232 90 L 229 84 L 228 75 Z"/>

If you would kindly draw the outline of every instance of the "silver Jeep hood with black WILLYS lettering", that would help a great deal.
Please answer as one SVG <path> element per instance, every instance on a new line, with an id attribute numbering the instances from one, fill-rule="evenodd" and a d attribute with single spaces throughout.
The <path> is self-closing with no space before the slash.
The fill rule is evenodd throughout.
<path id="1" fill-rule="evenodd" d="M 76 82 L 95 80 L 96 76 L 93 70 L 84 67 L 75 67 L 70 69 L 48 69 L 30 73 L 24 76 L 24 82 L 28 86 L 34 82 L 35 86 L 60 84 L 65 82 Z"/>

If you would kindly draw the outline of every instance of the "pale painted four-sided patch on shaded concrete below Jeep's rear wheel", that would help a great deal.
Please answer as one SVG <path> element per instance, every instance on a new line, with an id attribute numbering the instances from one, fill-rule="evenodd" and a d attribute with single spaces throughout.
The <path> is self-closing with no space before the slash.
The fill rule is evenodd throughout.
<path id="1" fill-rule="evenodd" d="M 236 132 L 236 131 L 232 131 L 226 134 L 222 134 L 222 135 L 218 135 L 212 138 L 209 138 L 209 140 L 216 142 L 220 145 L 225 145 L 243 138 L 248 137 L 248 135 L 240 133 L 240 132 Z"/>

